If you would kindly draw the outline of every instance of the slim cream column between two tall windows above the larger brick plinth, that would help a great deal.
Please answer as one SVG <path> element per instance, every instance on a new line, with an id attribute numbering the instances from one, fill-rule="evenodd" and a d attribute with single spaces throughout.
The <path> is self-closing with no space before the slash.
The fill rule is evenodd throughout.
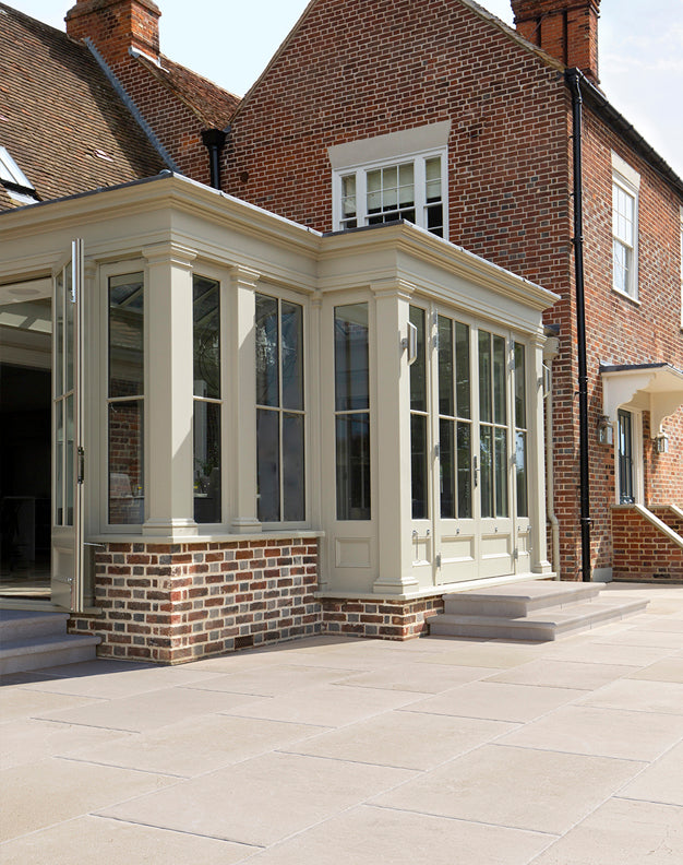
<path id="1" fill-rule="evenodd" d="M 233 316 L 230 333 L 232 374 L 232 531 L 261 531 L 256 517 L 256 284 L 261 274 L 232 269 Z"/>

